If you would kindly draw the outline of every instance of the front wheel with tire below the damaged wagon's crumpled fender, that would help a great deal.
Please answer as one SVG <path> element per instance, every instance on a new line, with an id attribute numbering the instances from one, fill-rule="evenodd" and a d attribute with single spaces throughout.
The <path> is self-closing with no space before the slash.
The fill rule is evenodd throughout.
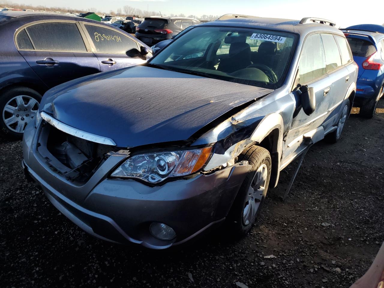
<path id="1" fill-rule="evenodd" d="M 239 156 L 252 166 L 240 186 L 227 217 L 227 226 L 234 238 L 245 236 L 256 222 L 271 177 L 271 156 L 268 150 L 252 146 Z"/>

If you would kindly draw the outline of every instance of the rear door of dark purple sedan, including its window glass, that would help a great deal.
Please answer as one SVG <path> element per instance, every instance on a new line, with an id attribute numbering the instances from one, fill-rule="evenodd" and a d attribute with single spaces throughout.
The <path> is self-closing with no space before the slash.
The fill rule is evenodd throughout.
<path id="1" fill-rule="evenodd" d="M 19 53 L 50 88 L 100 71 L 77 21 L 28 24 L 17 31 L 15 39 Z"/>

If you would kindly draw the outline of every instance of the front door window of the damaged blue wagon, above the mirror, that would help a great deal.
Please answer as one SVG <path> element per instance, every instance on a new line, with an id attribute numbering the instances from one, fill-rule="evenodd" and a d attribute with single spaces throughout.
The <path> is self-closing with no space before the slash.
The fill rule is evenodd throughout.
<path id="1" fill-rule="evenodd" d="M 309 83 L 326 73 L 323 42 L 320 34 L 308 36 L 299 61 L 300 84 Z"/>

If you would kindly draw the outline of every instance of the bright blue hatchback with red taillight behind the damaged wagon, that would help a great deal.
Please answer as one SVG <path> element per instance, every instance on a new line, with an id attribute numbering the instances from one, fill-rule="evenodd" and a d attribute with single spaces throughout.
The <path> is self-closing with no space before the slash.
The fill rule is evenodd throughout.
<path id="1" fill-rule="evenodd" d="M 360 115 L 372 118 L 384 94 L 384 27 L 374 24 L 349 26 L 342 30 L 359 65 L 354 105 Z"/>

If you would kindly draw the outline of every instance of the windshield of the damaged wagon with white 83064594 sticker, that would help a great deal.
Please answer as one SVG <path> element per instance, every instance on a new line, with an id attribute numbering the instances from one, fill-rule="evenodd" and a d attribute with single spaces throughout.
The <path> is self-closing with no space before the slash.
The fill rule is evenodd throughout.
<path id="1" fill-rule="evenodd" d="M 149 61 L 162 69 L 276 89 L 296 35 L 232 27 L 195 27 Z"/>

